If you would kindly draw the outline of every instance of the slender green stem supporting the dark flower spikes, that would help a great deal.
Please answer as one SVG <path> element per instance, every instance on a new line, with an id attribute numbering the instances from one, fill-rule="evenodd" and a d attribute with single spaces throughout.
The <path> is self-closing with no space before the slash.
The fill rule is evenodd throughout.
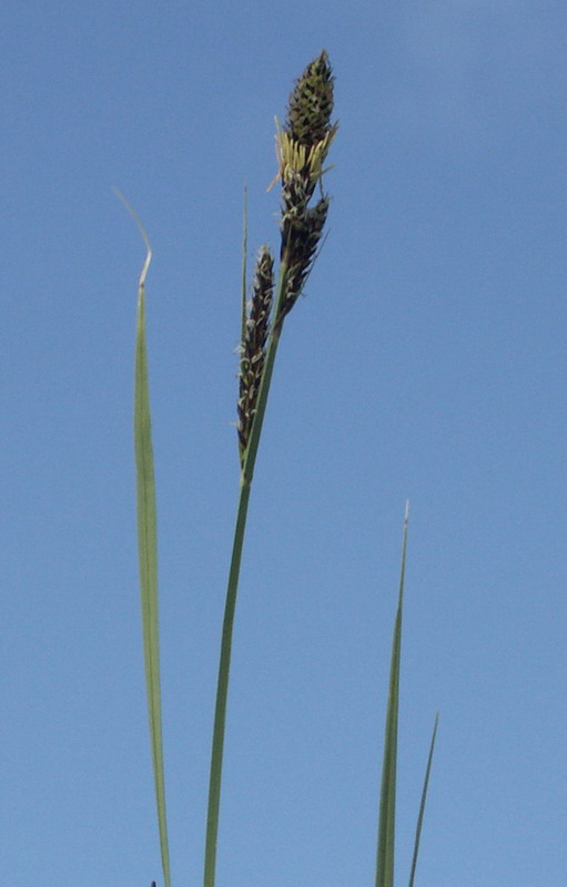
<path id="1" fill-rule="evenodd" d="M 280 276 L 275 294 L 275 306 L 273 317 L 280 317 L 283 295 L 285 292 L 286 265 L 280 265 Z M 250 491 L 252 478 L 256 462 L 257 448 L 264 415 L 272 381 L 272 373 L 280 344 L 282 325 L 272 328 L 267 344 L 264 373 L 260 386 L 256 415 L 252 424 L 250 440 L 244 455 L 240 480 L 239 508 L 236 512 L 236 524 L 234 528 L 234 541 L 232 546 L 231 567 L 229 571 L 229 583 L 226 588 L 226 601 L 224 604 L 224 620 L 221 636 L 221 660 L 219 663 L 219 679 L 216 683 L 216 702 L 214 708 L 213 744 L 211 753 L 211 775 L 209 782 L 209 805 L 206 810 L 206 837 L 205 837 L 205 858 L 203 887 L 214 887 L 216 871 L 216 844 L 219 837 L 219 813 L 221 808 L 221 784 L 222 766 L 224 752 L 224 734 L 226 727 L 226 701 L 229 696 L 229 677 L 231 671 L 232 635 L 234 628 L 234 613 L 236 610 L 236 597 L 239 591 L 240 568 L 242 561 L 242 549 L 244 544 L 244 533 L 246 529 L 246 518 L 249 511 Z"/>

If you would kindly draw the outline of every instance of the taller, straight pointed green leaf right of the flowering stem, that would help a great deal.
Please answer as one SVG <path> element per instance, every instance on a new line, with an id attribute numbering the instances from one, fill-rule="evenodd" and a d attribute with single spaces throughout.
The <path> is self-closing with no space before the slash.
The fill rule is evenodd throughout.
<path id="1" fill-rule="evenodd" d="M 384 736 L 384 759 L 382 765 L 378 842 L 377 842 L 377 854 L 376 854 L 376 880 L 375 880 L 376 887 L 393 887 L 394 885 L 397 717 L 399 707 L 399 661 L 402 652 L 402 612 L 404 605 L 407 521 L 408 521 L 408 506 L 406 503 L 406 511 L 404 519 L 404 539 L 402 546 L 402 567 L 399 573 L 399 593 L 397 601 L 396 620 L 394 624 L 394 638 L 392 642 L 392 661 L 389 667 L 386 730 Z"/>

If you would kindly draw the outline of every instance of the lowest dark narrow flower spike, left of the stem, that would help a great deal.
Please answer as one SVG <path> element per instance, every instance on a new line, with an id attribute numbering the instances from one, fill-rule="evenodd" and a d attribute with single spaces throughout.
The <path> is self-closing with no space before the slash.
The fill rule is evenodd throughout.
<path id="1" fill-rule="evenodd" d="M 270 333 L 270 313 L 274 293 L 274 259 L 267 246 L 262 246 L 254 274 L 252 299 L 244 324 L 244 340 L 240 348 L 240 390 L 237 430 L 241 463 L 250 440 L 256 411 L 257 395 L 264 369 L 265 347 Z"/>

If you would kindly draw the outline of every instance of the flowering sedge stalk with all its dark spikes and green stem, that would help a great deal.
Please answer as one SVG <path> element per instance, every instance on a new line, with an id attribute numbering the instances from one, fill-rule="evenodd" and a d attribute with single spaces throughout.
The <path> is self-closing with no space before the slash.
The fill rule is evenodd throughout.
<path id="1" fill-rule="evenodd" d="M 297 80 L 283 126 L 276 122 L 277 179 L 282 186 L 277 281 L 274 281 L 274 258 L 267 246 L 262 246 L 257 255 L 250 304 L 246 304 L 245 272 L 243 274 L 237 401 L 240 496 L 216 684 L 203 887 L 215 885 L 232 635 L 250 493 L 284 320 L 311 272 L 328 211 L 322 179 L 337 129 L 337 124 L 331 122 L 332 113 L 333 74 L 323 50 Z M 318 197 L 312 204 L 316 188 Z M 243 266 L 245 268 L 245 249 Z"/>

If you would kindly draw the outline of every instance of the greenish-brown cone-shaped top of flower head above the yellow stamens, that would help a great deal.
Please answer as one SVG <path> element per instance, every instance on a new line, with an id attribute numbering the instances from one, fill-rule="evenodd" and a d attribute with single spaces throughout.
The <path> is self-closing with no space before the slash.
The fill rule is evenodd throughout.
<path id="1" fill-rule="evenodd" d="M 333 82 L 328 55 L 323 50 L 306 67 L 290 95 L 284 132 L 294 142 L 310 149 L 331 131 Z"/>

